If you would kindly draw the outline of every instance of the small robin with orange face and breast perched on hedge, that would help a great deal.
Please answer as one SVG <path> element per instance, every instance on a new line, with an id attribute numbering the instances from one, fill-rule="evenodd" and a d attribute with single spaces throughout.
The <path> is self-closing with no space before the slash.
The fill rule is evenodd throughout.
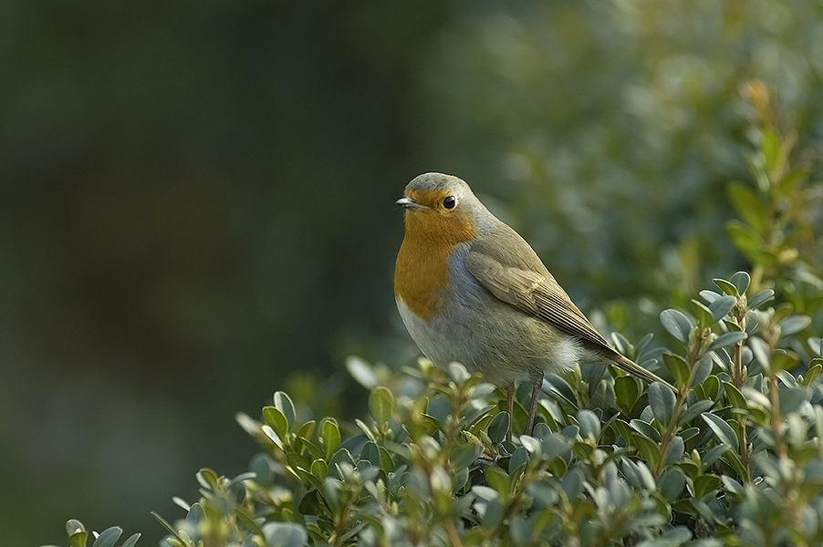
<path id="1" fill-rule="evenodd" d="M 526 240 L 464 181 L 422 174 L 397 204 L 405 209 L 406 229 L 394 296 L 409 334 L 436 366 L 457 361 L 505 388 L 510 415 L 515 382 L 528 378 L 526 433 L 535 423 L 545 372 L 605 359 L 669 386 L 609 346 Z"/>

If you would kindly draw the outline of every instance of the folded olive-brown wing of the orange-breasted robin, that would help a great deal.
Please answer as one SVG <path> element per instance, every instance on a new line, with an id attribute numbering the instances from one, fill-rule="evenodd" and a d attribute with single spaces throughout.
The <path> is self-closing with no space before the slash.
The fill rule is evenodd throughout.
<path id="1" fill-rule="evenodd" d="M 551 274 L 505 266 L 483 250 L 466 256 L 466 268 L 491 294 L 601 351 L 613 353 L 603 336 L 589 323 Z"/>

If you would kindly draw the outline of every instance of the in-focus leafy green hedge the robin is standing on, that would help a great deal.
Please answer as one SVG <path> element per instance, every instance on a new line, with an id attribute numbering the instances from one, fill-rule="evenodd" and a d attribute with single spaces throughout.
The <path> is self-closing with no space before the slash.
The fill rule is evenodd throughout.
<path id="1" fill-rule="evenodd" d="M 749 91 L 765 108 L 765 90 Z M 525 401 L 509 416 L 505 394 L 463 366 L 391 373 L 354 359 L 369 418 L 299 417 L 284 392 L 262 420 L 238 415 L 263 452 L 231 480 L 201 470 L 202 497 L 180 502 L 184 518 L 158 516 L 162 545 L 823 543 L 823 358 L 807 332 L 823 284 L 810 185 L 766 116 L 759 135 L 757 187 L 729 191 L 742 219 L 729 235 L 751 272 L 663 310 L 668 347 L 614 337 L 676 393 L 584 364 L 547 375 L 526 436 Z M 101 545 L 120 535 L 111 530 Z M 85 545 L 85 532 L 69 536 Z"/>

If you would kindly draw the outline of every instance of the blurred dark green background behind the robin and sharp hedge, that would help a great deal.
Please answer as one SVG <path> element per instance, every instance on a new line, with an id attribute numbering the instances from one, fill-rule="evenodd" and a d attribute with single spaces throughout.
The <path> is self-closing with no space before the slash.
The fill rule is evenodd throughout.
<path id="1" fill-rule="evenodd" d="M 345 356 L 417 355 L 393 201 L 424 171 L 601 323 L 659 332 L 745 266 L 718 234 L 751 78 L 819 147 L 820 2 L 6 0 L 0 544 L 74 517 L 154 545 L 196 470 L 245 470 L 234 412 L 357 413 Z"/>

